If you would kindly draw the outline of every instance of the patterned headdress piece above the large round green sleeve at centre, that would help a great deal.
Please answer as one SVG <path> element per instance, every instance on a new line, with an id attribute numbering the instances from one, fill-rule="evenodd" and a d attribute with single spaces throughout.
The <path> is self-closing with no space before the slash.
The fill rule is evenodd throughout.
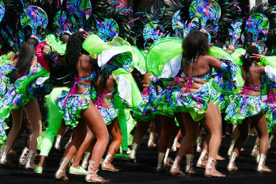
<path id="1" fill-rule="evenodd" d="M 148 41 L 149 39 L 157 41 L 165 37 L 162 26 L 158 24 L 158 19 L 155 21 L 150 21 L 145 25 L 143 36 L 145 41 Z"/>

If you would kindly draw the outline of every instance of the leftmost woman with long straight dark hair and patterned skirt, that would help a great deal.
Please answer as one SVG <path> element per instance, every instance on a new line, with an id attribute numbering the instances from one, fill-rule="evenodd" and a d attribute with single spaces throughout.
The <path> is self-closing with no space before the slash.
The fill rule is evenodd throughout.
<path id="1" fill-rule="evenodd" d="M 2 106 L 2 116 L 1 119 L 5 119 L 7 116 L 7 112 L 9 112 L 10 103 L 12 102 L 12 129 L 10 130 L 10 134 L 8 134 L 8 139 L 6 141 L 5 146 L 2 148 L 3 152 L 1 154 L 0 163 L 6 163 L 6 155 L 8 150 L 14 143 L 18 131 L 21 127 L 22 121 L 22 113 L 23 113 L 23 106 L 25 106 L 26 114 L 30 121 L 32 122 L 32 128 L 34 134 L 32 136 L 32 142 L 30 145 L 30 151 L 28 152 L 28 160 L 26 163 L 26 169 L 32 167 L 34 169 L 35 165 L 33 163 L 34 157 L 37 150 L 37 137 L 41 132 L 41 114 L 39 111 L 39 107 L 37 105 L 36 99 L 34 99 L 34 90 L 35 87 L 32 86 L 32 80 L 37 79 L 37 74 L 42 73 L 43 70 L 41 66 L 37 63 L 36 57 L 36 45 L 39 42 L 37 39 L 30 38 L 23 43 L 21 46 L 21 50 L 19 52 L 19 58 L 14 61 L 14 69 L 17 67 L 17 82 L 22 79 L 28 79 L 29 82 L 21 83 L 22 87 L 25 88 L 26 92 L 23 94 L 17 94 L 18 90 L 16 91 L 15 85 L 10 88 L 10 90 L 6 93 L 5 96 L 1 99 L 1 106 Z M 26 80 L 25 80 L 26 81 Z M 16 84 L 15 83 L 15 84 Z M 30 85 L 28 85 L 30 83 Z M 27 88 L 27 89 L 26 89 Z"/>

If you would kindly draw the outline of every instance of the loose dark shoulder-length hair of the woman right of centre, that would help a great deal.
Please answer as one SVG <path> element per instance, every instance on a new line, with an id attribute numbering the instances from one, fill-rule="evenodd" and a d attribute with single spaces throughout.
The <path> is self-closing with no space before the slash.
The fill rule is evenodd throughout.
<path id="1" fill-rule="evenodd" d="M 209 49 L 207 34 L 199 31 L 191 31 L 183 40 L 183 60 L 193 61 L 197 56 L 205 54 Z"/>

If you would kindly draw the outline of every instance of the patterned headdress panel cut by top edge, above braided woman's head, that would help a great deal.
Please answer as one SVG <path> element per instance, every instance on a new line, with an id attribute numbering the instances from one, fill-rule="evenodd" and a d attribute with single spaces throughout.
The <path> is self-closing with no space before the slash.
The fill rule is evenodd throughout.
<path id="1" fill-rule="evenodd" d="M 66 2 L 66 8 L 71 15 L 71 21 L 73 30 L 79 30 L 83 28 L 83 22 L 85 22 L 91 13 L 92 6 L 89 0 L 68 0 Z M 83 20 L 86 19 L 86 20 Z"/>

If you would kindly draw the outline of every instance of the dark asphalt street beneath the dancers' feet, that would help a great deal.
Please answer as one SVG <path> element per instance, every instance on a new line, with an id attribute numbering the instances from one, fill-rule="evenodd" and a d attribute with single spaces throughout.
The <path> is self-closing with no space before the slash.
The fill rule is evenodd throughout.
<path id="1" fill-rule="evenodd" d="M 68 138 L 61 140 L 61 146 L 66 143 Z M 255 136 L 250 136 L 239 159 L 237 159 L 237 167 L 239 171 L 228 172 L 226 166 L 228 163 L 227 149 L 230 143 L 230 136 L 222 139 L 219 154 L 226 158 L 226 161 L 217 162 L 217 170 L 226 174 L 226 178 L 206 178 L 204 177 L 203 168 L 195 168 L 196 174 L 191 176 L 170 176 L 168 172 L 157 173 L 155 166 L 157 164 L 157 148 L 147 148 L 144 139 L 141 147 L 137 152 L 137 163 L 129 163 L 121 159 L 114 159 L 113 164 L 120 169 L 120 172 L 99 171 L 99 175 L 109 179 L 110 183 L 276 183 L 276 141 L 273 142 L 272 148 L 268 152 L 267 165 L 273 172 L 260 174 L 255 172 L 257 164 L 255 160 L 249 156 L 250 150 L 253 148 Z M 155 140 L 157 141 L 157 139 Z M 18 164 L 18 159 L 23 149 L 23 141 L 20 139 L 15 143 L 14 150 L 17 154 L 9 154 L 12 165 L 0 165 L 0 183 L 85 183 L 84 176 L 77 176 L 67 173 L 68 181 L 57 181 L 55 172 L 61 161 L 62 152 L 53 149 L 50 156 L 46 159 L 43 174 L 34 174 L 32 170 L 24 170 Z M 170 156 L 175 158 L 176 153 L 171 153 Z M 194 165 L 199 157 L 195 153 Z M 36 163 L 38 163 L 37 157 Z M 181 161 L 181 170 L 184 170 L 185 159 Z"/>

